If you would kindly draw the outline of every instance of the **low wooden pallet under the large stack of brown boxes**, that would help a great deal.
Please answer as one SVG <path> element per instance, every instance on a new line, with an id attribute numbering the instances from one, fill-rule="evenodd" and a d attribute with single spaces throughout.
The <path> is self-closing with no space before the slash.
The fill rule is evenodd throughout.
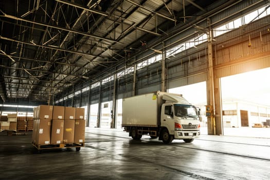
<path id="1" fill-rule="evenodd" d="M 59 149 L 59 148 L 76 148 L 76 151 L 80 151 L 81 147 L 84 147 L 84 143 L 60 143 L 60 144 L 49 144 L 49 145 L 32 145 L 38 150 L 44 149 Z"/>

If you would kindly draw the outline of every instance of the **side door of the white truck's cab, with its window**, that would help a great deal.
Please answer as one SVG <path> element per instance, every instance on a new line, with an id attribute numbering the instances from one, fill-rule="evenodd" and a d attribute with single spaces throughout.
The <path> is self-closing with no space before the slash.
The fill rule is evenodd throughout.
<path id="1" fill-rule="evenodd" d="M 174 134 L 174 119 L 173 119 L 173 106 L 164 105 L 164 112 L 161 115 L 161 126 L 166 127 L 170 134 Z"/>

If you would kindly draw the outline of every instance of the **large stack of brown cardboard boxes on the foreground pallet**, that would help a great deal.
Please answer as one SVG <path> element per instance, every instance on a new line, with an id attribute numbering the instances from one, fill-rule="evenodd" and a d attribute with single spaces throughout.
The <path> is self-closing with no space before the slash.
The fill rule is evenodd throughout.
<path id="1" fill-rule="evenodd" d="M 40 105 L 34 109 L 34 145 L 84 143 L 84 134 L 84 108 Z"/>

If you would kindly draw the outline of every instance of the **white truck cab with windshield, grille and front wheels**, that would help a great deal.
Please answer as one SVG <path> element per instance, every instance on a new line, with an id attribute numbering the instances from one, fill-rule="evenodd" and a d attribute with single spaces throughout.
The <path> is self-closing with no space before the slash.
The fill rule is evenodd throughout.
<path id="1" fill-rule="evenodd" d="M 183 97 L 164 95 L 161 106 L 159 140 L 170 143 L 173 139 L 192 142 L 200 136 L 200 112 Z"/>

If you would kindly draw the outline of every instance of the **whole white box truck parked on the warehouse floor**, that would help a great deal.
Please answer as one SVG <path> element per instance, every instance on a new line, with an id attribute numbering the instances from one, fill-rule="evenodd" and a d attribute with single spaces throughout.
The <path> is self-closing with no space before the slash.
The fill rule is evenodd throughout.
<path id="1" fill-rule="evenodd" d="M 142 135 L 170 143 L 200 136 L 200 111 L 182 95 L 154 92 L 123 99 L 122 127 L 133 139 Z"/>

